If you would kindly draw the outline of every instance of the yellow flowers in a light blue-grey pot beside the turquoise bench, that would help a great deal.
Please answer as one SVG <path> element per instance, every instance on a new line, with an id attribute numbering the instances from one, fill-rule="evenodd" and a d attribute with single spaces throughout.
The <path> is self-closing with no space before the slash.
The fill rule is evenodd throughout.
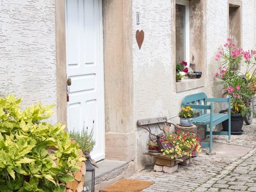
<path id="1" fill-rule="evenodd" d="M 197 111 L 195 110 L 195 113 Z M 179 112 L 179 118 L 180 118 L 180 125 L 190 126 L 193 125 L 193 117 L 194 117 L 194 111 L 191 109 L 190 106 L 187 106 L 186 108 L 181 108 Z"/>

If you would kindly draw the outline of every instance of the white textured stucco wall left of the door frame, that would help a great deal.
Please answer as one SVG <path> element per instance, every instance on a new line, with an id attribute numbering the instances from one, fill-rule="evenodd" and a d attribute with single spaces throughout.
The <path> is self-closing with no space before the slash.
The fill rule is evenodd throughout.
<path id="1" fill-rule="evenodd" d="M 54 0 L 1 0 L 0 12 L 0 93 L 56 103 Z"/>

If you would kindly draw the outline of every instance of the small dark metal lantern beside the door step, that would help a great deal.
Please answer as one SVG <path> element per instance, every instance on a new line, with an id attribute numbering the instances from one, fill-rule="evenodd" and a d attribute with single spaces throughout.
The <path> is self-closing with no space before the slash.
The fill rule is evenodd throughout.
<path id="1" fill-rule="evenodd" d="M 86 173 L 84 175 L 84 192 L 94 192 L 95 185 L 95 167 L 92 165 L 90 155 L 86 156 Z"/>

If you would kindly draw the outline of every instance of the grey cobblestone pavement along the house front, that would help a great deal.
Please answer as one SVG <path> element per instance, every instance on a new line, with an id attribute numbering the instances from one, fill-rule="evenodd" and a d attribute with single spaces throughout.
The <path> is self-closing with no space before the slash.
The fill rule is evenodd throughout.
<path id="1" fill-rule="evenodd" d="M 252 147 L 245 156 L 225 159 L 200 154 L 188 166 L 179 166 L 177 172 L 161 173 L 143 170 L 133 179 L 153 180 L 155 184 L 144 192 L 155 191 L 256 191 L 256 124 L 244 125 L 242 135 L 215 136 L 214 141 L 229 145 Z M 237 151 L 239 153 L 239 151 Z"/>

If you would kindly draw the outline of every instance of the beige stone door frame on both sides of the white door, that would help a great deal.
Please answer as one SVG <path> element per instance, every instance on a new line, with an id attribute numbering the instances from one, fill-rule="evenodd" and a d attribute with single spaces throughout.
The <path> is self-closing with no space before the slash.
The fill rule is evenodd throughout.
<path id="1" fill-rule="evenodd" d="M 106 158 L 131 161 L 136 156 L 132 75 L 132 40 L 135 31 L 132 31 L 132 0 L 102 0 L 102 4 Z M 57 120 L 67 124 L 65 0 L 55 0 L 55 11 Z M 113 38 L 113 33 L 122 36 Z M 111 78 L 113 74 L 120 79 L 122 86 L 119 84 L 116 87 L 116 82 Z M 115 92 L 117 94 L 113 94 Z M 116 142 L 122 143 L 122 150 Z"/>

